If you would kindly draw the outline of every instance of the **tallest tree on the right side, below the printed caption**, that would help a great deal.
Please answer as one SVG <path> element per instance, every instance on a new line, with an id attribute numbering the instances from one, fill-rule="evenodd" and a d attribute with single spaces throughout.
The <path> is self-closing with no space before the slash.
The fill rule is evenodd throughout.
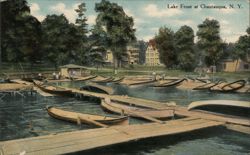
<path id="1" fill-rule="evenodd" d="M 206 65 L 216 65 L 223 55 L 219 22 L 214 19 L 206 19 L 198 25 L 197 36 L 198 46 L 205 52 Z"/>

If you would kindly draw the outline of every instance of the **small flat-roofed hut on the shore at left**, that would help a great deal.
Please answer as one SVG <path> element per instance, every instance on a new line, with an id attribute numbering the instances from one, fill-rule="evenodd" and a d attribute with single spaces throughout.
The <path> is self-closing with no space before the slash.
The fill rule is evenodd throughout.
<path id="1" fill-rule="evenodd" d="M 77 77 L 77 76 L 86 76 L 90 74 L 90 70 L 87 67 L 68 64 L 60 66 L 61 75 L 64 77 Z"/>

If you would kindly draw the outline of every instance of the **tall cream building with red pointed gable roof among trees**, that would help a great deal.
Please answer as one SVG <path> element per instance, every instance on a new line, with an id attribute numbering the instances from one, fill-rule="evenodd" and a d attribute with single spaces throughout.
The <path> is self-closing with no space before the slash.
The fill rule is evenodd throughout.
<path id="1" fill-rule="evenodd" d="M 161 66 L 159 52 L 156 48 L 155 40 L 149 40 L 148 47 L 146 50 L 146 61 L 147 66 Z"/>

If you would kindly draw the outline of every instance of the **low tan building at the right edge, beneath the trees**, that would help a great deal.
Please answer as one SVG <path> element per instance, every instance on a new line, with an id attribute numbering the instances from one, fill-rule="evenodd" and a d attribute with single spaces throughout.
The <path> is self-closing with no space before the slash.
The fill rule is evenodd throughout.
<path id="1" fill-rule="evenodd" d="M 219 67 L 224 72 L 250 71 L 250 63 L 241 59 L 225 59 L 220 63 Z"/>

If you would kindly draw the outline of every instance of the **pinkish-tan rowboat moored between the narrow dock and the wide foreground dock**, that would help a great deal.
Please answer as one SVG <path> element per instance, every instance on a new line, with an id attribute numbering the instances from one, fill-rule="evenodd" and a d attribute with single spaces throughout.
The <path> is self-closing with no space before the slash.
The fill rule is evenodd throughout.
<path id="1" fill-rule="evenodd" d="M 155 110 L 155 109 L 146 109 L 141 107 L 129 106 L 125 104 L 120 104 L 110 100 L 102 100 L 101 106 L 105 110 L 108 110 L 113 113 L 128 115 L 137 118 L 152 117 L 156 119 L 166 119 L 174 116 L 174 110 L 172 109 L 164 109 L 164 110 Z M 145 118 L 146 117 L 146 118 Z"/>

